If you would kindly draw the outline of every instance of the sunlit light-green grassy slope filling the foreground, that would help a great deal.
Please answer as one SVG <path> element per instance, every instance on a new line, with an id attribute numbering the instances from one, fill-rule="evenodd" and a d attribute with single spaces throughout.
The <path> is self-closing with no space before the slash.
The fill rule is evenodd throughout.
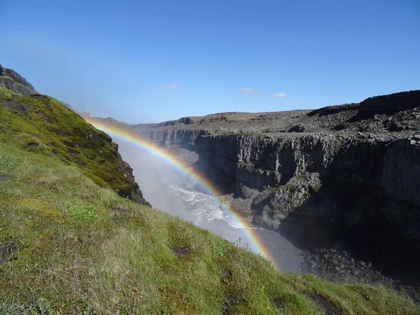
<path id="1" fill-rule="evenodd" d="M 307 293 L 344 314 L 420 314 L 381 286 L 276 272 L 53 156 L 0 144 L 0 175 L 0 251 L 15 244 L 0 255 L 0 314 L 321 314 Z"/>

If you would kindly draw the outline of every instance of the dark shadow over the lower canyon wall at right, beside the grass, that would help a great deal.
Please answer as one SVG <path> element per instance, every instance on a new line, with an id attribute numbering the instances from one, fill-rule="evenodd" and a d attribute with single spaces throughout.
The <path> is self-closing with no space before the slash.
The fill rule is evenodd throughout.
<path id="1" fill-rule="evenodd" d="M 321 188 L 287 214 L 276 232 L 309 252 L 339 246 L 402 285 L 420 286 L 420 243 L 407 238 L 410 229 L 418 229 L 416 207 L 377 197 L 366 186 L 321 181 Z M 392 212 L 405 222 L 391 222 L 386 216 Z"/>

